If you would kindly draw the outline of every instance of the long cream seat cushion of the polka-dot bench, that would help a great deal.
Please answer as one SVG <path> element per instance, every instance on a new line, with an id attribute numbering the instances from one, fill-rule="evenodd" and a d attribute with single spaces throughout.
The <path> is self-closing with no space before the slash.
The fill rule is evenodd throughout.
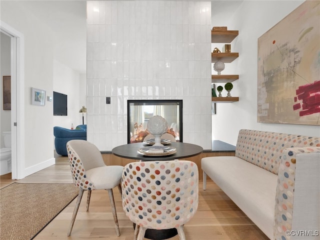
<path id="1" fill-rule="evenodd" d="M 235 156 L 204 157 L 201 168 L 272 239 L 277 175 Z"/>

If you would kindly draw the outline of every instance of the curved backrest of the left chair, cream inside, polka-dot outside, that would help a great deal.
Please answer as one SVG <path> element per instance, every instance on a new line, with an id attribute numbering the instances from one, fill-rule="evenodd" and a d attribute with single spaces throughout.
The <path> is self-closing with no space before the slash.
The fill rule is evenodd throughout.
<path id="1" fill-rule="evenodd" d="M 73 183 L 84 190 L 93 190 L 93 183 L 86 177 L 86 170 L 104 166 L 98 148 L 86 140 L 70 140 L 66 143 Z"/>

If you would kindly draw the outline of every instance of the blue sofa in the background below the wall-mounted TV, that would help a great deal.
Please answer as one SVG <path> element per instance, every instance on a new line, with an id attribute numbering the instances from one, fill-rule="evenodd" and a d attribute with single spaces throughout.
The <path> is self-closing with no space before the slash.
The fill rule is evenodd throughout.
<path id="1" fill-rule="evenodd" d="M 66 143 L 73 139 L 86 140 L 86 124 L 77 125 L 74 130 L 61 126 L 53 127 L 54 146 L 57 154 L 67 156 Z"/>

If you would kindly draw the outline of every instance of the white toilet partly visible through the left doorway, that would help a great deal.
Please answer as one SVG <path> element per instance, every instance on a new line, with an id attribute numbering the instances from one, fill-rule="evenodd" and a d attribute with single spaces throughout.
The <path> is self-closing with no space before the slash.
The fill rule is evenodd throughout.
<path id="1" fill-rule="evenodd" d="M 0 148 L 0 175 L 11 172 L 11 132 L 3 131 L 4 148 Z"/>

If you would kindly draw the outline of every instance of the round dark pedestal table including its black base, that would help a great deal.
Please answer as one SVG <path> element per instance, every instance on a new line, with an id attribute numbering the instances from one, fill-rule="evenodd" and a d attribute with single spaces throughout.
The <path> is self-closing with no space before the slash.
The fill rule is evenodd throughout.
<path id="1" fill-rule="evenodd" d="M 190 156 L 198 155 L 202 152 L 201 146 L 185 143 L 185 142 L 171 142 L 168 146 L 175 147 L 176 152 L 172 155 L 166 156 L 145 156 L 137 153 L 140 147 L 146 146 L 143 142 L 129 143 L 120 146 L 116 146 L 112 149 L 112 153 L 119 157 L 142 160 L 142 161 L 154 161 L 154 160 L 174 160 L 179 158 L 186 158 Z M 135 224 L 133 223 L 133 226 Z M 146 229 L 144 237 L 148 239 L 161 240 L 173 237 L 177 234 L 176 228 L 156 230 Z"/>

